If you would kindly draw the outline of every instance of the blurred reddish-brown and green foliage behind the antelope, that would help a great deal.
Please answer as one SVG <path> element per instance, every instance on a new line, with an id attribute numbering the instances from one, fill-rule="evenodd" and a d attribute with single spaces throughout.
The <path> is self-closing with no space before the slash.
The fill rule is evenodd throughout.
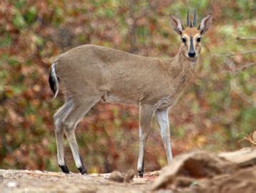
<path id="1" fill-rule="evenodd" d="M 171 0 L 1 0 L 0 168 L 58 171 L 48 71 L 53 57 L 83 44 L 104 45 L 138 55 L 169 58 L 181 40 L 169 13 L 197 23 L 213 13 L 203 37 L 201 60 L 191 84 L 171 108 L 174 155 L 188 150 L 235 150 L 256 125 L 256 3 Z M 150 76 L 150 75 L 149 75 Z M 136 169 L 138 109 L 97 104 L 77 128 L 89 172 Z M 156 121 L 146 146 L 146 170 L 166 164 Z M 65 140 L 66 160 L 74 172 Z"/>

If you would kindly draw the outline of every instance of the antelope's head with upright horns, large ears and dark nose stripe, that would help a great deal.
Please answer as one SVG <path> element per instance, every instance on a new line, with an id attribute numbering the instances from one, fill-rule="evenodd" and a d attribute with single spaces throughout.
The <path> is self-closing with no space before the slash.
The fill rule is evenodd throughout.
<path id="1" fill-rule="evenodd" d="M 198 28 L 196 28 L 196 11 L 193 14 L 193 23 L 189 20 L 189 13 L 187 13 L 186 28 L 176 16 L 170 15 L 170 18 L 171 27 L 181 36 L 181 53 L 190 60 L 195 60 L 201 52 L 201 38 L 210 28 L 213 16 L 211 14 L 205 16 Z"/>

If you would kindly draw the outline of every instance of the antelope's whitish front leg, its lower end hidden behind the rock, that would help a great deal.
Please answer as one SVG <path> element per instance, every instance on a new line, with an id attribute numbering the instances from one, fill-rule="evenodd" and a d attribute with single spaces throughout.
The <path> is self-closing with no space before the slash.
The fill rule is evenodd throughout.
<path id="1" fill-rule="evenodd" d="M 164 143 L 164 148 L 166 150 L 167 162 L 169 164 L 172 159 L 172 154 L 168 111 L 169 109 L 156 110 L 155 114 L 157 123 L 159 124 L 160 127 L 160 133 Z"/>

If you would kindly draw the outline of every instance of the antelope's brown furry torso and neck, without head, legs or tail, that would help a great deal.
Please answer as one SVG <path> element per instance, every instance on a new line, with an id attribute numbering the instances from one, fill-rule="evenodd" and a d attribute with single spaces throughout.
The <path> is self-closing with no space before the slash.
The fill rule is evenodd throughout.
<path id="1" fill-rule="evenodd" d="M 161 60 L 82 45 L 60 55 L 55 67 L 66 97 L 83 100 L 86 96 L 102 96 L 103 101 L 152 104 L 160 108 L 176 101 L 191 79 L 196 61 L 182 53 Z M 160 105 L 159 101 L 165 97 L 169 97 L 168 104 Z"/>

